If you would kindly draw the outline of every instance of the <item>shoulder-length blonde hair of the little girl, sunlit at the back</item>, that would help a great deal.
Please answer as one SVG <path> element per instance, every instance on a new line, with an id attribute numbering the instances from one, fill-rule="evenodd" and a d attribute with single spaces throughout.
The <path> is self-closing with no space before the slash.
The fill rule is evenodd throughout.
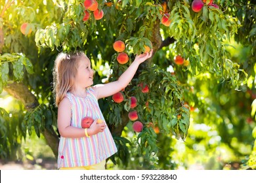
<path id="1" fill-rule="evenodd" d="M 75 75 L 81 56 L 87 56 L 83 52 L 74 54 L 60 53 L 55 59 L 53 70 L 53 92 L 55 94 L 55 104 L 58 107 L 60 101 L 64 99 L 66 93 L 74 87 Z"/>

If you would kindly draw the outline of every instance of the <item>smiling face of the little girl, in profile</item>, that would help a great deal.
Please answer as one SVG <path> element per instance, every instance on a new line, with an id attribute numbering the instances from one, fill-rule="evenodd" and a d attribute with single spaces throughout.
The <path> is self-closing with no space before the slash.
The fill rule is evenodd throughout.
<path id="1" fill-rule="evenodd" d="M 93 69 L 91 69 L 91 61 L 85 56 L 79 58 L 75 83 L 81 88 L 87 88 L 93 85 Z"/>

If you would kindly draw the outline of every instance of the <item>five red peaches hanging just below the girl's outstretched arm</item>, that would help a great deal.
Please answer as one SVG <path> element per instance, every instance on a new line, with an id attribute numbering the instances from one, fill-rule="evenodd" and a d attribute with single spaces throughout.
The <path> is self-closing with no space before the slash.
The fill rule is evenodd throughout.
<path id="1" fill-rule="evenodd" d="M 147 84 L 143 84 L 140 83 L 139 84 L 140 90 L 142 93 L 148 93 L 149 92 L 149 88 Z M 122 101 L 124 101 L 124 97 L 123 97 L 123 92 L 117 92 L 114 95 L 112 95 L 112 99 L 114 102 L 116 103 L 121 103 Z M 136 132 L 140 132 L 143 129 L 143 124 L 142 122 L 138 121 L 138 114 L 137 114 L 137 110 L 135 110 L 135 107 L 137 107 L 137 98 L 135 96 L 131 96 L 129 97 L 129 103 L 131 111 L 128 113 L 128 118 L 131 121 L 135 121 L 133 123 L 133 130 Z"/>

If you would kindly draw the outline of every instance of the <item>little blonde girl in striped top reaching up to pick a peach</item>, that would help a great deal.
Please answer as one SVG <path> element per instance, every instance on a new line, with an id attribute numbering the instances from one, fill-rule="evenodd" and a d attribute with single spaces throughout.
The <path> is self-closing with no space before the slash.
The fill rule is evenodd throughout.
<path id="1" fill-rule="evenodd" d="M 58 169 L 105 169 L 106 158 L 117 152 L 114 139 L 98 106 L 98 99 L 125 88 L 140 63 L 152 51 L 140 54 L 115 82 L 93 86 L 91 62 L 83 52 L 61 53 L 54 65 L 54 93 L 58 107 Z M 85 116 L 94 119 L 89 128 L 81 127 Z M 97 120 L 104 122 L 98 124 Z"/>

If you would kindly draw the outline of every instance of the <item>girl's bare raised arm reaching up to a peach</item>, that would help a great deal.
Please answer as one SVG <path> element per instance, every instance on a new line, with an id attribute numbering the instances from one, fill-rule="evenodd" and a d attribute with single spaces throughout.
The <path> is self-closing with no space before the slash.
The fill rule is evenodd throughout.
<path id="1" fill-rule="evenodd" d="M 152 52 L 153 50 L 151 50 L 151 52 L 136 56 L 133 63 L 131 63 L 127 70 L 118 78 L 118 80 L 107 84 L 98 84 L 94 86 L 98 99 L 114 95 L 115 93 L 125 88 L 129 84 L 129 82 L 131 82 L 140 63 L 150 58 L 152 56 Z"/>

